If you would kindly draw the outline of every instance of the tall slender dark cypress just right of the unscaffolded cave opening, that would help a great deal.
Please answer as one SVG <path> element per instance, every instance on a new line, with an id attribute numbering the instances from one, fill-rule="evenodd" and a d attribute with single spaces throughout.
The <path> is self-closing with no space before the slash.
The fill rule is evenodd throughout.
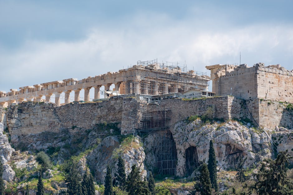
<path id="1" fill-rule="evenodd" d="M 214 145 L 212 140 L 209 141 L 209 161 L 208 161 L 208 169 L 209 169 L 209 178 L 211 180 L 212 188 L 215 191 L 218 191 L 218 183 L 217 183 L 217 161 L 214 150 Z"/>

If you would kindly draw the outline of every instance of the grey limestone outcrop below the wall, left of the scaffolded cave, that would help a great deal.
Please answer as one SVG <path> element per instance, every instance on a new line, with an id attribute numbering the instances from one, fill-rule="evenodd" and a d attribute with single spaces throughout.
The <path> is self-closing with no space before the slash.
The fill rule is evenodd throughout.
<path id="1" fill-rule="evenodd" d="M 142 178 L 146 178 L 146 170 L 143 163 L 145 153 L 143 148 L 139 146 L 139 140 L 134 138 L 132 146 L 124 147 L 119 145 L 117 137 L 108 136 L 86 157 L 90 168 L 95 171 L 95 177 L 99 182 L 104 182 L 108 164 L 112 167 L 112 176 L 114 177 L 114 174 L 117 172 L 117 158 L 119 155 L 125 161 L 127 175 L 131 172 L 131 166 L 135 164 L 141 171 Z"/>

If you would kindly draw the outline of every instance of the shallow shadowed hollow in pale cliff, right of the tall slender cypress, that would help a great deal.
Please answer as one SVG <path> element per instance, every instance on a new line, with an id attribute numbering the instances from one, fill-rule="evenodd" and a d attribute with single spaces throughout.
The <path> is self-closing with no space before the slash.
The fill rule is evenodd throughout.
<path id="1" fill-rule="evenodd" d="M 228 165 L 228 169 L 236 169 L 239 160 L 243 158 L 243 151 L 230 144 L 226 145 L 225 156 Z"/>

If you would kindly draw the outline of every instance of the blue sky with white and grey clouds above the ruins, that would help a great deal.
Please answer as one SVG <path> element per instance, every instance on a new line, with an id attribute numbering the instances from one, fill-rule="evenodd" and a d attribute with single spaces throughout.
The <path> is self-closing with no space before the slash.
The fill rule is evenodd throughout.
<path id="1" fill-rule="evenodd" d="M 293 69 L 293 1 L 0 0 L 0 91 L 138 60 Z"/>

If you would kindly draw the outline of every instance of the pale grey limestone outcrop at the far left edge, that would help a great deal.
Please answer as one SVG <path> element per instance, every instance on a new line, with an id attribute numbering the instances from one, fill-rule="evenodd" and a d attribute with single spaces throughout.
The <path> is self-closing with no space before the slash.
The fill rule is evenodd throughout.
<path id="1" fill-rule="evenodd" d="M 11 169 L 7 162 L 10 160 L 14 149 L 8 143 L 8 137 L 3 134 L 3 130 L 4 126 L 0 123 L 0 157 L 3 165 L 2 178 L 7 182 L 11 182 L 15 177 L 15 172 Z"/>

